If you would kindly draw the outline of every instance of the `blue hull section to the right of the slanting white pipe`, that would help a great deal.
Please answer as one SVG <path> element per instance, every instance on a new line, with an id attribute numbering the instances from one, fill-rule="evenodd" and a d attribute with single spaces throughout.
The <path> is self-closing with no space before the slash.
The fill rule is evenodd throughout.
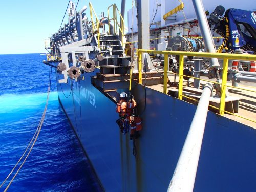
<path id="1" fill-rule="evenodd" d="M 256 130 L 208 112 L 194 191 L 255 191 Z"/>

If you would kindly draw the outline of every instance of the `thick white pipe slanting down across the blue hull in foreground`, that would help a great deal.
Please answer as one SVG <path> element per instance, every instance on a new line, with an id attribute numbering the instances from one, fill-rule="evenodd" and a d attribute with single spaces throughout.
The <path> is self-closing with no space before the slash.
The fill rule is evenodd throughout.
<path id="1" fill-rule="evenodd" d="M 196 113 L 191 122 L 172 180 L 167 189 L 168 192 L 192 192 L 194 189 L 212 89 L 213 87 L 209 83 L 205 84 L 203 88 Z"/>

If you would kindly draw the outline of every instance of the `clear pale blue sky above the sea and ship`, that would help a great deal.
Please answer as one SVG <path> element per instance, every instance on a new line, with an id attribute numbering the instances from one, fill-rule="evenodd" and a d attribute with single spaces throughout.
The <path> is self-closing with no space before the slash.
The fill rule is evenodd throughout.
<path id="1" fill-rule="evenodd" d="M 0 54 L 45 53 L 45 39 L 60 28 L 69 0 L 7 0 L 1 1 Z M 73 0 L 77 4 L 78 0 Z M 121 9 L 121 0 L 91 0 L 98 16 L 113 3 Z M 75 4 L 75 5 L 76 5 Z M 80 0 L 79 11 L 89 1 Z M 126 10 L 132 8 L 132 1 L 126 0 Z M 125 15 L 126 16 L 126 15 Z M 63 23 L 68 23 L 66 13 Z M 127 23 L 127 22 L 125 22 Z M 63 24 L 62 24 L 63 26 Z"/>

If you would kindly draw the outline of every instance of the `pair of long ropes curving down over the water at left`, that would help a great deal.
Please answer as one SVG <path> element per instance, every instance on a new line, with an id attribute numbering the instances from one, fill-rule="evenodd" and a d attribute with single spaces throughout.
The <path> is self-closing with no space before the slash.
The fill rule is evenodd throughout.
<path id="1" fill-rule="evenodd" d="M 4 192 L 6 192 L 8 190 L 8 188 L 10 187 L 12 181 L 15 179 L 15 177 L 17 176 L 19 170 L 22 168 L 22 166 L 24 165 L 25 161 L 27 160 L 32 148 L 34 147 L 34 144 L 37 140 L 37 137 L 41 131 L 41 127 L 42 127 L 42 124 L 44 123 L 44 119 L 45 119 L 45 115 L 46 115 L 46 110 L 47 110 L 47 106 L 48 106 L 48 101 L 49 101 L 49 95 L 50 95 L 50 88 L 51 88 L 51 78 L 52 78 L 52 67 L 49 68 L 49 80 L 48 80 L 48 90 L 47 90 L 47 100 L 46 100 L 46 105 L 45 105 L 45 109 L 44 109 L 44 112 L 42 113 L 42 117 L 40 119 L 40 122 L 37 126 L 37 129 L 35 131 L 35 134 L 34 136 L 32 137 L 30 143 L 28 144 L 25 152 L 23 153 L 23 155 L 19 158 L 18 162 L 15 164 L 15 166 L 13 167 L 13 169 L 11 170 L 11 172 L 9 173 L 9 175 L 6 177 L 6 179 L 3 181 L 3 183 L 0 185 L 0 188 L 5 184 L 5 182 L 7 181 L 7 179 L 11 176 L 11 174 L 13 173 L 14 169 L 17 167 L 17 165 L 19 164 L 19 162 L 23 159 L 24 155 L 26 154 L 28 148 L 30 147 L 32 141 L 32 145 L 30 147 L 30 150 L 28 152 L 28 154 L 26 155 L 25 159 L 23 160 L 22 164 L 19 166 L 17 172 L 15 173 L 15 175 L 13 176 L 13 178 L 11 179 L 11 181 L 9 182 L 8 186 L 5 188 Z"/>

